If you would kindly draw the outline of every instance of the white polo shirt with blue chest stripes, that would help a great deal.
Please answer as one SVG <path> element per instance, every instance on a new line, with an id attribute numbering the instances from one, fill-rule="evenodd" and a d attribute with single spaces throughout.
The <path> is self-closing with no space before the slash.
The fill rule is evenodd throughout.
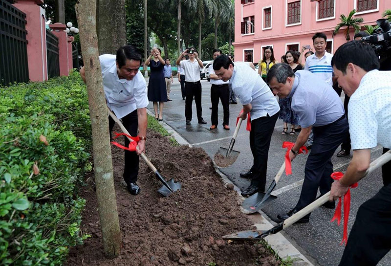
<path id="1" fill-rule="evenodd" d="M 305 61 L 304 70 L 311 71 L 324 81 L 326 81 L 330 86 L 333 86 L 333 67 L 331 66 L 331 59 L 333 55 L 325 51 L 325 55 L 320 59 L 316 57 L 315 54 L 307 57 Z"/>

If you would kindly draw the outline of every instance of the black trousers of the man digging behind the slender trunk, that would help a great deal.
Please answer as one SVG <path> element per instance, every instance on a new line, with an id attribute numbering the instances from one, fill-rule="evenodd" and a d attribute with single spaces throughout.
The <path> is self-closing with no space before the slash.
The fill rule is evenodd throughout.
<path id="1" fill-rule="evenodd" d="M 126 130 L 130 133 L 132 137 L 137 136 L 137 127 L 138 127 L 138 119 L 137 119 L 137 110 L 132 111 L 130 114 L 121 118 L 122 124 L 126 128 Z M 111 139 L 111 131 L 115 125 L 115 121 L 109 116 L 109 132 Z M 125 146 L 128 147 L 130 140 L 125 136 Z M 124 180 L 127 184 L 134 183 L 137 181 L 138 175 L 138 161 L 139 156 L 136 152 L 125 151 L 125 169 L 124 169 Z"/>

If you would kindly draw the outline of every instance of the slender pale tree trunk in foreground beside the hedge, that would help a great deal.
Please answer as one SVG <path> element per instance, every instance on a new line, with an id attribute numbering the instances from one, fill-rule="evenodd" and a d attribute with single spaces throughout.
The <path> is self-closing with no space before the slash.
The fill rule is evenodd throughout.
<path id="1" fill-rule="evenodd" d="M 114 191 L 109 119 L 103 90 L 102 70 L 99 63 L 96 36 L 96 2 L 79 0 L 76 16 L 80 27 L 80 43 L 86 69 L 88 106 L 92 127 L 92 149 L 96 198 L 102 230 L 103 247 L 108 258 L 118 256 L 121 245 L 117 203 Z"/>

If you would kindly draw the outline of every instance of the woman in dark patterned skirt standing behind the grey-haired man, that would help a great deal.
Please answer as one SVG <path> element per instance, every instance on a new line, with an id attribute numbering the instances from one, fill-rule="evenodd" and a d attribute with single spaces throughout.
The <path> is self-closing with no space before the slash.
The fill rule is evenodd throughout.
<path id="1" fill-rule="evenodd" d="M 289 50 L 285 53 L 286 63 L 293 69 L 293 72 L 297 70 L 302 70 L 303 67 L 298 64 L 298 55 L 292 50 Z M 282 134 L 286 135 L 288 133 L 288 123 L 291 124 L 290 133 L 295 135 L 295 129 L 299 126 L 299 116 L 291 109 L 292 98 L 284 98 L 279 100 L 280 104 L 280 115 L 279 118 L 282 119 L 284 127 L 282 129 Z"/>

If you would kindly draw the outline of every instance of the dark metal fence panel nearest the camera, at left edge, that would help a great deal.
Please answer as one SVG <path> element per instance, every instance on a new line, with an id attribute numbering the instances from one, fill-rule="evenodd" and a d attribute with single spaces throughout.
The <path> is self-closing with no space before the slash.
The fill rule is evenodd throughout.
<path id="1" fill-rule="evenodd" d="M 0 84 L 28 82 L 26 14 L 0 0 Z"/>

